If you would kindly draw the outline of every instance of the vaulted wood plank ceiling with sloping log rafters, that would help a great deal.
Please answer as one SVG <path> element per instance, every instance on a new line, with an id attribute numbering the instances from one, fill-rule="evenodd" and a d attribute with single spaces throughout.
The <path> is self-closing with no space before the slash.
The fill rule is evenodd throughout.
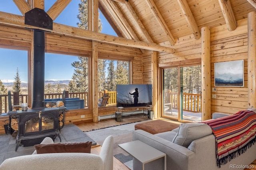
<path id="1" fill-rule="evenodd" d="M 256 10 L 255 0 L 99 0 L 99 8 L 118 36 L 171 47 L 202 27 L 228 25 Z M 193 35 L 192 35 L 193 36 Z"/>

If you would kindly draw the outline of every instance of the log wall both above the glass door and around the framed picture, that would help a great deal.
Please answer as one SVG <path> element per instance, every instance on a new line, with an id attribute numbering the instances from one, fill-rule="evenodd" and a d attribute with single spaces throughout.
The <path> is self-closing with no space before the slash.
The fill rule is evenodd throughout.
<path id="1" fill-rule="evenodd" d="M 248 109 L 247 18 L 238 21 L 235 31 L 228 31 L 226 25 L 221 25 L 212 28 L 210 32 L 211 89 L 214 87 L 214 63 L 244 60 L 244 87 L 216 87 L 216 92 L 210 92 L 217 96 L 216 99 L 211 99 L 211 113 L 236 113 Z M 194 40 L 192 35 L 178 39 L 174 45 L 174 54 L 158 53 L 158 66 L 171 67 L 200 61 L 202 50 L 200 43 L 201 39 Z M 145 75 L 144 79 L 150 76 Z"/>

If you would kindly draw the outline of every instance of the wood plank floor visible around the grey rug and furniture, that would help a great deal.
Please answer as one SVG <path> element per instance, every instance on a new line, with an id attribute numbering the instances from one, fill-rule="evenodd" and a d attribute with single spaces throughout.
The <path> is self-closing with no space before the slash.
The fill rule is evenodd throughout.
<path id="1" fill-rule="evenodd" d="M 122 124 L 126 124 L 126 123 L 133 123 L 136 121 L 142 121 L 144 119 L 147 118 L 143 118 L 143 117 L 129 117 L 129 118 L 125 118 L 123 119 L 122 122 L 117 122 L 115 121 L 115 119 L 106 119 L 106 120 L 101 120 L 97 123 L 80 123 L 80 124 L 76 124 L 82 131 L 91 131 L 93 129 L 100 129 L 100 128 L 104 128 L 104 127 L 110 127 L 110 126 L 116 126 L 116 125 L 122 125 Z M 166 119 L 164 119 L 166 120 Z M 170 121 L 170 120 L 166 120 L 166 121 Z M 172 123 L 179 123 L 176 121 L 171 121 Z M 179 123 L 180 124 L 180 123 Z M 97 145 L 96 147 L 93 147 L 91 149 L 91 153 L 93 154 L 100 154 L 100 149 L 101 146 Z M 250 164 L 250 167 L 253 168 L 246 168 L 244 170 L 256 170 L 256 160 L 254 160 L 254 162 L 252 162 L 252 164 Z M 129 168 L 127 168 L 127 166 L 125 166 L 122 162 L 120 162 L 118 159 L 116 159 L 114 157 L 114 162 L 113 162 L 113 170 L 129 170 Z"/>

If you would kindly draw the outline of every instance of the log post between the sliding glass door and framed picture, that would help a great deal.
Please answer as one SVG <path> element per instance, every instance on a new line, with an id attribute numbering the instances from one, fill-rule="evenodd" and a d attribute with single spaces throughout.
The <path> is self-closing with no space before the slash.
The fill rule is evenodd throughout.
<path id="1" fill-rule="evenodd" d="M 202 121 L 212 118 L 211 115 L 211 49 L 210 27 L 202 27 Z"/>

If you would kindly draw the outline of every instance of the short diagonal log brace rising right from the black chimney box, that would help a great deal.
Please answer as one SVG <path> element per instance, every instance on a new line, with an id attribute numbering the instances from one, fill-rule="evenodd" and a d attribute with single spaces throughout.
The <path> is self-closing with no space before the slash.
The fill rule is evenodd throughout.
<path id="1" fill-rule="evenodd" d="M 54 21 L 70 2 L 71 0 L 57 0 L 46 13 Z"/>

